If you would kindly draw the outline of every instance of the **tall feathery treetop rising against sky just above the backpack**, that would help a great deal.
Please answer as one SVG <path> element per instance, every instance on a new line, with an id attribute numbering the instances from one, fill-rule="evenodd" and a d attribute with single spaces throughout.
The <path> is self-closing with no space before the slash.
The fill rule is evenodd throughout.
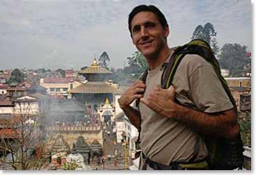
<path id="1" fill-rule="evenodd" d="M 205 40 L 206 42 L 208 42 L 209 45 L 211 45 L 211 38 L 215 37 L 216 35 L 217 33 L 213 27 L 213 24 L 207 22 L 206 24 L 204 24 L 204 26 L 198 25 L 195 28 L 192 39 Z"/>

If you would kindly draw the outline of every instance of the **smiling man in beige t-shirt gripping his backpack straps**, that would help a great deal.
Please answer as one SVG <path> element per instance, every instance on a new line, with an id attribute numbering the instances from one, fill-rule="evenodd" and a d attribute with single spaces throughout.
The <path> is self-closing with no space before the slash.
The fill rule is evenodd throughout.
<path id="1" fill-rule="evenodd" d="M 160 88 L 163 65 L 174 50 L 168 47 L 170 29 L 158 8 L 135 7 L 128 25 L 133 44 L 149 65 L 146 84 L 136 81 L 119 99 L 130 122 L 141 129 L 140 169 L 201 163 L 208 152 L 198 133 L 224 138 L 239 133 L 234 106 L 211 64 L 197 55 L 186 55 L 170 88 Z M 130 106 L 135 99 L 140 99 L 140 112 Z"/>

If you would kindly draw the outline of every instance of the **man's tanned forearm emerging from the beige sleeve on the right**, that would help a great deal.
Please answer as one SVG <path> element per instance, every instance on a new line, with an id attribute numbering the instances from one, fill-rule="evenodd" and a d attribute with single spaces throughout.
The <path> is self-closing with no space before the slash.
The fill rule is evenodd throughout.
<path id="1" fill-rule="evenodd" d="M 168 109 L 163 113 L 165 116 L 172 116 L 172 119 L 188 125 L 199 133 L 224 138 L 234 138 L 239 133 L 239 125 L 234 110 L 209 114 L 179 105 L 176 108 L 179 108 L 176 110 L 179 113 L 174 114 L 172 110 Z"/>

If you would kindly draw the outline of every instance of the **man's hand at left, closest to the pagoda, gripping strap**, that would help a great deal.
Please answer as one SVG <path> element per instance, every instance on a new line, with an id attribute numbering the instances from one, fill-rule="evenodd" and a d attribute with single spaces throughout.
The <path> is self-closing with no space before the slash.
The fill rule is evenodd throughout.
<path id="1" fill-rule="evenodd" d="M 119 99 L 120 108 L 126 108 L 130 106 L 135 99 L 140 99 L 143 97 L 146 85 L 143 81 L 135 81 L 135 83 L 122 94 Z"/>

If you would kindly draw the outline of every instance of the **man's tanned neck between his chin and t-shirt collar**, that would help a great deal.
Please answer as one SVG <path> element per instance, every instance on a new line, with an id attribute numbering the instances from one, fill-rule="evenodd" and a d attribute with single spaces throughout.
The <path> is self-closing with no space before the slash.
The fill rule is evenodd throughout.
<path id="1" fill-rule="evenodd" d="M 149 68 L 151 70 L 156 69 L 156 67 L 160 66 L 165 60 L 172 54 L 172 49 L 165 48 L 163 49 L 158 56 L 155 58 L 146 58 Z"/>

